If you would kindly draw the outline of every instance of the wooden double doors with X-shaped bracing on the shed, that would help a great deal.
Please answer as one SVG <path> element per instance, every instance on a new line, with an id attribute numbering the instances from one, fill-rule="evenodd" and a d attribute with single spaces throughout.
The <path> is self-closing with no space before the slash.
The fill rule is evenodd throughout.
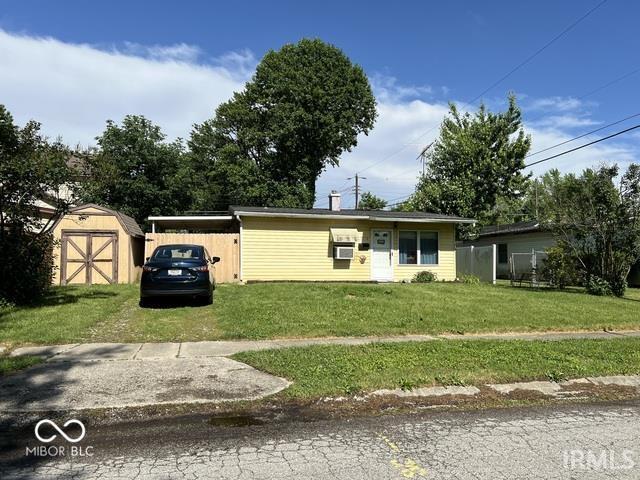
<path id="1" fill-rule="evenodd" d="M 118 283 L 118 232 L 62 231 L 60 283 Z"/>

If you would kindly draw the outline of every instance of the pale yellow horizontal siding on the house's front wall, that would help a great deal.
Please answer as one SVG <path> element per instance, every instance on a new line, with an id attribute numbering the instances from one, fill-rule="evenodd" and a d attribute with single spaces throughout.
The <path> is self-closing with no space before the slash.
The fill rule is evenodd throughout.
<path id="1" fill-rule="evenodd" d="M 371 251 L 359 250 L 354 260 L 334 260 L 330 228 L 355 228 L 360 243 L 371 243 L 371 229 L 394 232 L 394 280 L 410 279 L 416 272 L 431 270 L 439 279 L 455 279 L 454 227 L 442 223 L 370 222 L 243 217 L 242 279 L 245 281 L 370 281 Z M 398 229 L 439 233 L 439 265 L 398 265 Z M 361 259 L 363 257 L 363 259 Z M 362 261 L 364 260 L 364 261 Z"/>

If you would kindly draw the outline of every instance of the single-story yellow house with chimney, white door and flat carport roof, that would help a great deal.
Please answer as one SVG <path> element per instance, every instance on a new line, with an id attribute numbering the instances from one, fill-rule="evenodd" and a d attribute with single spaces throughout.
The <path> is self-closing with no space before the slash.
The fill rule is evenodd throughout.
<path id="1" fill-rule="evenodd" d="M 424 212 L 343 210 L 337 193 L 329 200 L 329 209 L 232 206 L 220 215 L 151 216 L 153 233 L 147 242 L 150 248 L 157 246 L 157 234 L 167 243 L 171 236 L 160 230 L 182 232 L 175 238 L 183 241 L 189 238 L 187 232 L 199 232 L 200 239 L 217 235 L 212 232 L 238 232 L 238 280 L 246 282 L 398 282 L 422 270 L 432 271 L 439 280 L 455 280 L 455 226 L 474 220 Z"/>

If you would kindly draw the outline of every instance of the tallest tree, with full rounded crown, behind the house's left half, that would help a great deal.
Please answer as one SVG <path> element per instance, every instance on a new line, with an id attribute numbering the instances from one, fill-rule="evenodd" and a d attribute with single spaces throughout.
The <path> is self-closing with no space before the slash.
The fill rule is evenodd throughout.
<path id="1" fill-rule="evenodd" d="M 364 71 L 338 48 L 304 39 L 269 51 L 245 89 L 194 126 L 196 207 L 311 207 L 318 176 L 375 117 Z"/>

